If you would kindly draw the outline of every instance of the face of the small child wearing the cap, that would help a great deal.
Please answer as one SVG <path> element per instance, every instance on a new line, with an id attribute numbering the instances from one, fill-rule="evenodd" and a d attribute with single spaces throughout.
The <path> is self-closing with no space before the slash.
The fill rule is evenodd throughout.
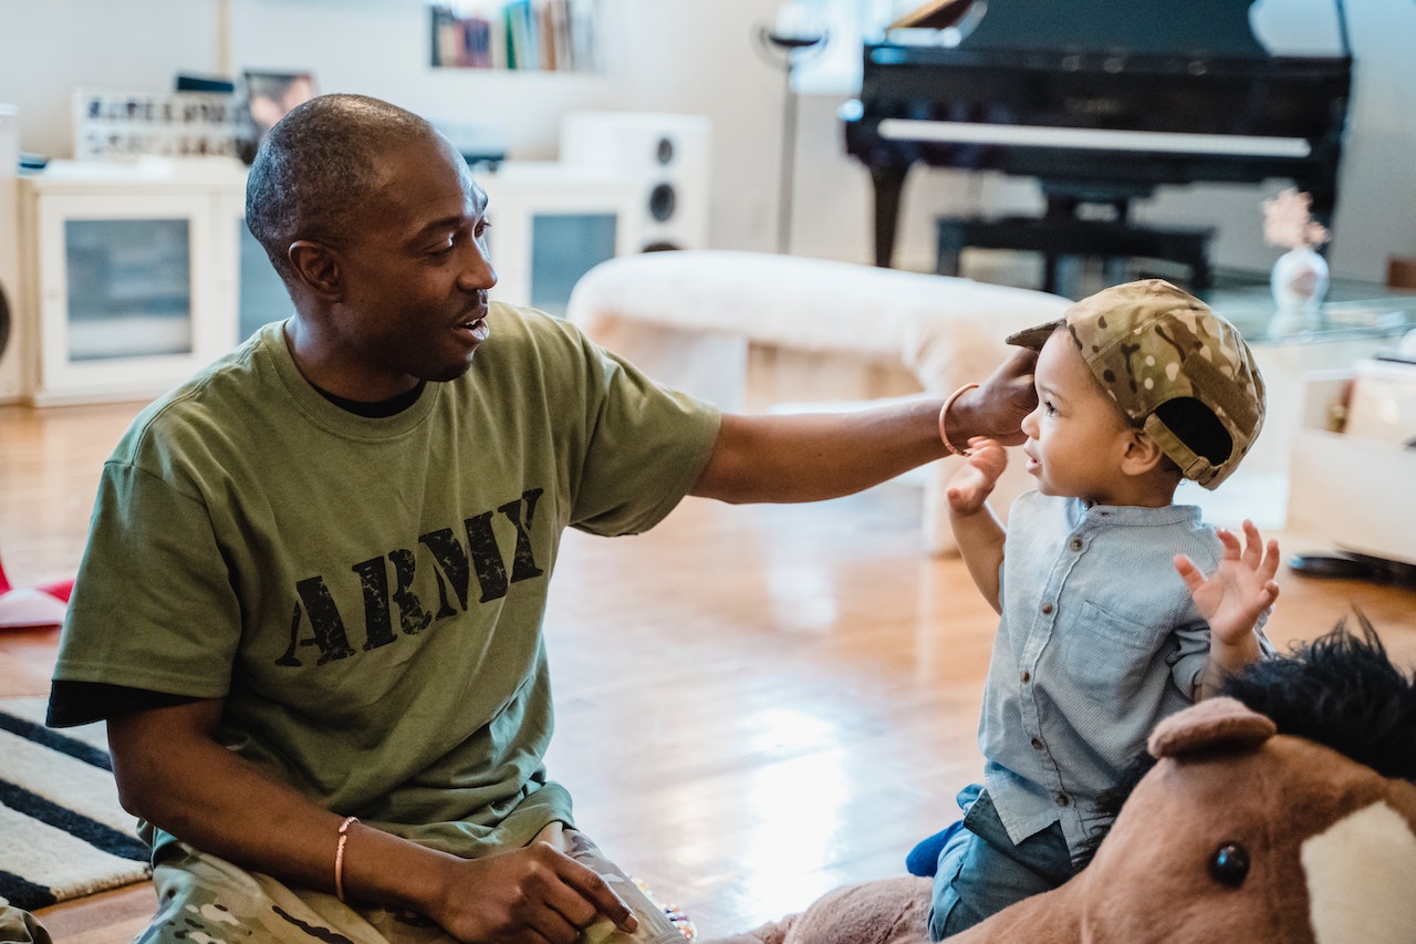
<path id="1" fill-rule="evenodd" d="M 1022 420 L 1028 473 L 1044 495 L 1123 505 L 1121 459 L 1136 428 L 1097 386 L 1066 329 L 1052 333 L 1034 371 L 1038 405 Z"/>

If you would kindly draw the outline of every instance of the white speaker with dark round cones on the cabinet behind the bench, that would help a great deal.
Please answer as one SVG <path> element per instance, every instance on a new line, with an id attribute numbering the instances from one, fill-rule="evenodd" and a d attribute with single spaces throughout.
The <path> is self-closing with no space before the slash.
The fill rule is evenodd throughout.
<path id="1" fill-rule="evenodd" d="M 643 177 L 641 251 L 708 248 L 712 122 L 704 115 L 569 112 L 561 163 Z"/>

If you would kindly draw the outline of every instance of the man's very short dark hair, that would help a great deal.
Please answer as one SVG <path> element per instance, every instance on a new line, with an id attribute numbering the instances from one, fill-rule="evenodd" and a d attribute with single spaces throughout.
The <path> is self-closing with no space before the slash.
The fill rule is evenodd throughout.
<path id="1" fill-rule="evenodd" d="M 280 119 L 246 179 L 246 227 L 280 278 L 296 278 L 287 255 L 296 240 L 338 247 L 358 230 L 391 146 L 435 133 L 418 115 L 364 95 L 320 95 Z"/>

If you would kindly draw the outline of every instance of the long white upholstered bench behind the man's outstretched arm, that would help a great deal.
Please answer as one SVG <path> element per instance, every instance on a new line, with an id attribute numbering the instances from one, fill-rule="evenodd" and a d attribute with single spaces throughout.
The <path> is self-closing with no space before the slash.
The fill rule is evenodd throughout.
<path id="1" fill-rule="evenodd" d="M 650 377 L 724 410 L 851 410 L 983 380 L 1008 356 L 1010 333 L 1069 303 L 854 262 L 680 249 L 596 265 L 572 289 L 566 318 Z M 956 550 L 943 486 L 961 462 L 922 471 L 930 553 Z M 1010 462 L 994 507 L 1005 513 L 1031 485 L 1024 463 Z"/>

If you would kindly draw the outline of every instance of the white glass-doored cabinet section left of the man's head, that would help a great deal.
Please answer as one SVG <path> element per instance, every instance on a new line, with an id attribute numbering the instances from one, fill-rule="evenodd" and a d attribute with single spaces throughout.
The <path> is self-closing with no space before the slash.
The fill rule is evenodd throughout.
<path id="1" fill-rule="evenodd" d="M 156 397 L 241 340 L 238 162 L 57 162 L 20 183 L 28 403 Z M 245 278 L 279 285 L 269 262 Z"/>

